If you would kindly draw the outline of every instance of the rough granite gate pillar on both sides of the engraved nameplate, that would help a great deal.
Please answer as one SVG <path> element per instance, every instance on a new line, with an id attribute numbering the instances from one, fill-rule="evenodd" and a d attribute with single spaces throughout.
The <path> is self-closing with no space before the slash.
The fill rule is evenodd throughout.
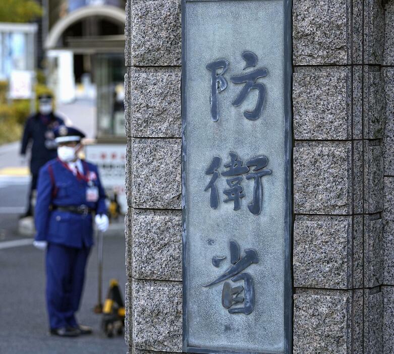
<path id="1" fill-rule="evenodd" d="M 181 2 L 126 13 L 126 342 L 180 353 Z M 293 0 L 292 18 L 289 352 L 392 354 L 394 0 Z"/>

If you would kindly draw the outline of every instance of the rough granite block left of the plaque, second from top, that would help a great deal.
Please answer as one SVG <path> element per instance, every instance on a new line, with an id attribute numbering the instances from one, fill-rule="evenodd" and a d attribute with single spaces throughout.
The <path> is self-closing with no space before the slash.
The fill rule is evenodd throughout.
<path id="1" fill-rule="evenodd" d="M 181 69 L 132 68 L 133 137 L 181 137 Z"/>

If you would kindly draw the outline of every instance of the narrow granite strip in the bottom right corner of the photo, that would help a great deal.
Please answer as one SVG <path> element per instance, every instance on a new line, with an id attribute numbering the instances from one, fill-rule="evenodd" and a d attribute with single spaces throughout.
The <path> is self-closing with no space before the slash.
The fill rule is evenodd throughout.
<path id="1" fill-rule="evenodd" d="M 383 354 L 394 353 L 394 287 L 382 286 Z"/>

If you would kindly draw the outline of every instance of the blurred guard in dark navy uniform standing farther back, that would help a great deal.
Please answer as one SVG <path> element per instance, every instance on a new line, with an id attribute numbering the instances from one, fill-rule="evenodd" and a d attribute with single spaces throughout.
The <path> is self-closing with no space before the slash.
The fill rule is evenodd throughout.
<path id="1" fill-rule="evenodd" d="M 31 115 L 26 121 L 21 142 L 22 156 L 26 155 L 27 147 L 32 142 L 30 192 L 27 211 L 22 217 L 32 215 L 31 199 L 33 191 L 37 188 L 38 171 L 46 162 L 57 156 L 53 130 L 64 125 L 63 119 L 52 112 L 52 96 L 50 94 L 38 96 L 38 103 L 38 112 Z"/>

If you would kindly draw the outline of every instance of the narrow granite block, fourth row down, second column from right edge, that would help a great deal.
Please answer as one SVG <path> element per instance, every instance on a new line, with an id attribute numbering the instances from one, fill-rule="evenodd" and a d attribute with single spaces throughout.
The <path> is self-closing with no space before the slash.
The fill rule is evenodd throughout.
<path id="1" fill-rule="evenodd" d="M 364 216 L 364 286 L 383 282 L 383 220 L 379 215 Z"/>

